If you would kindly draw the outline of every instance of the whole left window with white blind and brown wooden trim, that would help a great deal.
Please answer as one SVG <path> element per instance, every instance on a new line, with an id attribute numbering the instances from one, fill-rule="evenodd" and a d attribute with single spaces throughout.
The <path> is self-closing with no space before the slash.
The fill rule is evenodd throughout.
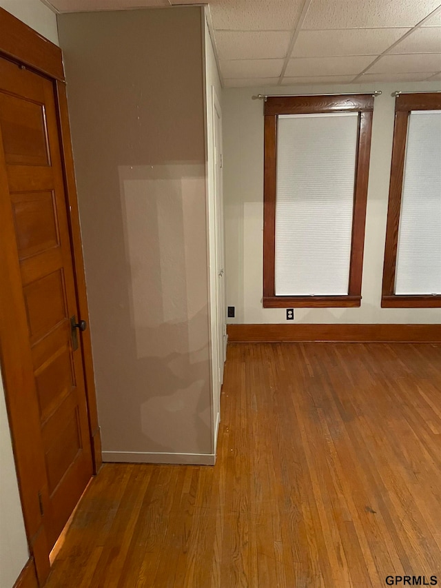
<path id="1" fill-rule="evenodd" d="M 373 96 L 265 102 L 263 306 L 360 306 Z"/>

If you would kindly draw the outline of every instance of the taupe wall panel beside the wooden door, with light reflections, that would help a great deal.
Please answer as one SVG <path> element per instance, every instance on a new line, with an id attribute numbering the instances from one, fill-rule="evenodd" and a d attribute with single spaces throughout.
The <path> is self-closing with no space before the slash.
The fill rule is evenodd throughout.
<path id="1" fill-rule="evenodd" d="M 103 458 L 212 463 L 202 9 L 58 24 Z"/>

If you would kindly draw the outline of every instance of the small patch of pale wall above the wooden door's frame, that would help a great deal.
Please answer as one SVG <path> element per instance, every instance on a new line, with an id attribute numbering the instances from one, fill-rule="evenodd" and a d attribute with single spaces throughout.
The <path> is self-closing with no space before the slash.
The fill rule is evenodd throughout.
<path id="1" fill-rule="evenodd" d="M 0 6 L 52 43 L 59 44 L 57 15 L 41 0 L 0 0 Z"/>

